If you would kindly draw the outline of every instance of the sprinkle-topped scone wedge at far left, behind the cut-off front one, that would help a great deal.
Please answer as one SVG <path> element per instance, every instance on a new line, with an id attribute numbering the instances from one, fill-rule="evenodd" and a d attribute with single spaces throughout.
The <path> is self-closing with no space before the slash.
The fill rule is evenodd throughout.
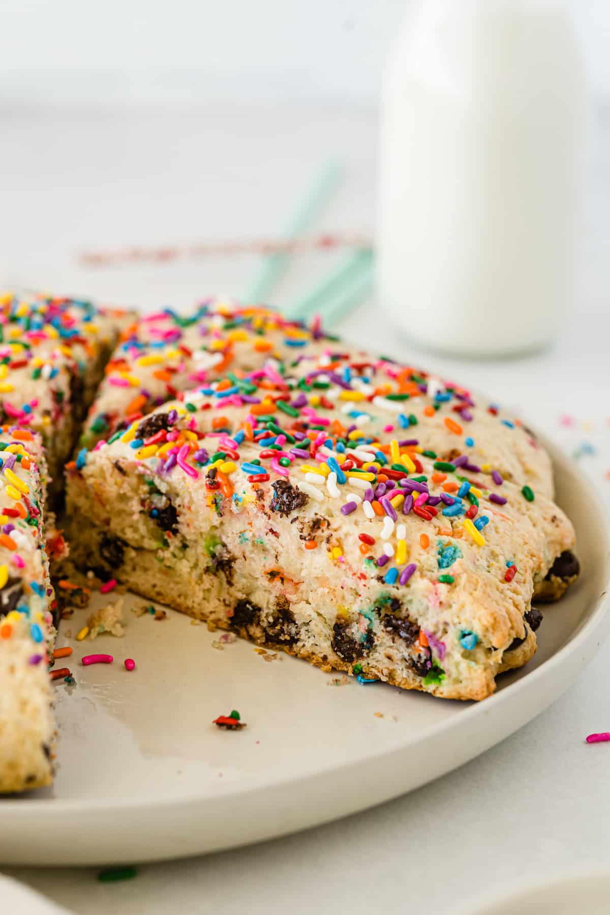
<path id="1" fill-rule="evenodd" d="M 0 420 L 41 434 L 52 494 L 126 318 L 77 299 L 0 294 Z"/>

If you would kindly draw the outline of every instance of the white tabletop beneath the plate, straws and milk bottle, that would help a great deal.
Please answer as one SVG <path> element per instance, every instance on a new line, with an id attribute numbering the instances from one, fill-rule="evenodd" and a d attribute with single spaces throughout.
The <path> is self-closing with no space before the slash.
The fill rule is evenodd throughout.
<path id="1" fill-rule="evenodd" d="M 245 293 L 255 258 L 84 269 L 82 247 L 250 238 L 278 232 L 328 156 L 344 186 L 320 228 L 372 231 L 376 113 L 302 104 L 292 109 L 159 114 L 16 114 L 0 145 L 0 274 L 15 284 L 102 296 L 142 307 L 187 305 L 211 292 Z M 516 361 L 456 361 L 413 350 L 371 303 L 349 338 L 487 390 L 576 455 L 610 508 L 608 393 L 608 141 L 598 135 L 583 232 L 579 304 L 557 345 Z M 305 293 L 333 254 L 294 261 L 278 304 Z M 590 453 L 591 451 L 594 453 Z M 548 612 L 561 612 L 561 606 Z M 9 873 L 76 912 L 294 915 L 447 910 L 494 886 L 607 867 L 610 644 L 570 692 L 498 747 L 412 794 L 277 841 L 208 857 L 143 865 L 124 883 L 94 870 Z M 321 816 L 323 816 L 321 812 Z M 83 823 L 94 829 L 95 823 Z M 52 829 L 52 823 L 49 823 Z M 74 836 L 78 842 L 78 835 Z M 425 908 L 424 908 L 425 907 Z"/>

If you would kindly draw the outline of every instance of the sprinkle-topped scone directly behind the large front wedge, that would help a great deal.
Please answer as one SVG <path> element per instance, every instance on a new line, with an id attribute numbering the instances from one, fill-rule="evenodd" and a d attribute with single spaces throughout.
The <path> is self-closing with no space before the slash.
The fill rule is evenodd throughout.
<path id="1" fill-rule="evenodd" d="M 495 404 L 424 371 L 337 343 L 316 324 L 304 328 L 268 308 L 220 300 L 210 300 L 189 317 L 166 309 L 125 330 L 91 406 L 81 445 L 93 447 L 177 393 L 223 376 L 231 382 L 223 393 L 227 403 L 233 395 L 243 400 L 248 397 L 244 373 L 261 371 L 263 365 L 258 379 L 263 388 L 273 387 L 278 370 L 289 374 L 299 382 L 299 403 L 319 407 L 329 424 L 338 416 L 351 440 L 358 440 L 359 431 L 379 436 L 387 425 L 399 437 L 417 438 L 423 427 L 426 447 L 440 458 L 467 453 L 471 465 L 496 468 L 507 479 L 552 496 L 546 452 Z M 330 400 L 331 413 L 325 405 Z"/>

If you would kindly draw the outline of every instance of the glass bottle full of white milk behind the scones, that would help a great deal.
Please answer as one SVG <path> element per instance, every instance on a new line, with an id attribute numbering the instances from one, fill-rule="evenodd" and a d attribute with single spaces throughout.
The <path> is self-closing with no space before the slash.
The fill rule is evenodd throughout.
<path id="1" fill-rule="evenodd" d="M 382 306 L 438 350 L 534 350 L 573 295 L 584 77 L 543 0 L 428 0 L 381 121 Z"/>

